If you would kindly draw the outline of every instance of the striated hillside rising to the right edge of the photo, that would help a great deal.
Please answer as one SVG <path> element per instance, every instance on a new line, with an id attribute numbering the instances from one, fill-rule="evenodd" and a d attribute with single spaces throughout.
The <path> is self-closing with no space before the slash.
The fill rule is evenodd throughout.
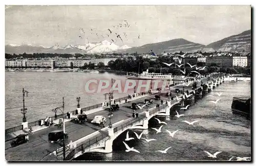
<path id="1" fill-rule="evenodd" d="M 250 51 L 251 30 L 238 35 L 232 35 L 202 48 L 203 51 Z"/>

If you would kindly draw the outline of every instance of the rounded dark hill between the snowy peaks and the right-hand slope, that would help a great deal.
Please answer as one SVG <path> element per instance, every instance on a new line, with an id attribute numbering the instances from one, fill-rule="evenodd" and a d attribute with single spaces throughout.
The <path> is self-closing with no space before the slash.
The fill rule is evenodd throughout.
<path id="1" fill-rule="evenodd" d="M 174 53 L 174 52 L 194 52 L 204 47 L 205 45 L 193 43 L 185 39 L 173 39 L 160 43 L 145 44 L 139 47 L 132 47 L 129 49 L 123 49 L 116 51 L 117 53 Z M 151 51 L 152 50 L 152 51 Z"/>

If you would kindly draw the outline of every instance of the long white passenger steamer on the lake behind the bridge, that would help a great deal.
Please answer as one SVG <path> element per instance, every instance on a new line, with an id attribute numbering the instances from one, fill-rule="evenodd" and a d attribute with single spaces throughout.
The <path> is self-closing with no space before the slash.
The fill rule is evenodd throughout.
<path id="1" fill-rule="evenodd" d="M 176 76 L 174 77 L 172 74 L 162 74 L 161 72 L 160 73 L 148 73 L 148 69 L 146 71 L 143 71 L 142 74 L 127 72 L 126 77 L 128 79 L 161 79 L 161 80 L 163 80 L 163 79 L 173 80 L 173 78 L 176 78 Z"/>

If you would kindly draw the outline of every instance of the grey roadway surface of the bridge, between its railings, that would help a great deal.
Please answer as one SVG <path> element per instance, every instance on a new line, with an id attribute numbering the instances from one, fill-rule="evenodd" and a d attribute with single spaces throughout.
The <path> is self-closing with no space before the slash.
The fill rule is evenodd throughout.
<path id="1" fill-rule="evenodd" d="M 203 84 L 207 82 L 206 78 L 203 78 Z M 201 85 L 201 82 L 198 82 Z M 200 86 L 198 85 L 198 86 Z M 183 86 L 179 86 L 178 88 L 182 88 Z M 191 90 L 192 84 L 188 87 L 184 86 L 185 90 Z M 175 97 L 173 93 L 173 97 Z M 161 97 L 164 99 L 164 102 L 167 100 L 165 93 L 161 94 Z M 151 96 L 145 96 L 143 98 L 137 99 L 132 102 L 127 102 L 120 105 L 119 110 L 113 112 L 112 124 L 119 122 L 121 120 L 125 120 L 127 118 L 132 117 L 133 109 L 130 107 L 133 102 L 143 104 L 145 98 L 154 98 L 154 94 Z M 160 103 L 160 100 L 153 100 L 153 104 L 148 105 L 148 109 L 153 108 L 156 104 Z M 145 107 L 140 110 L 136 110 L 138 113 L 144 112 Z M 100 112 L 88 115 L 88 122 L 84 124 L 76 124 L 72 121 L 65 123 L 65 131 L 69 134 L 69 138 L 65 140 L 65 144 L 69 144 L 70 141 L 76 141 L 81 137 L 89 135 L 97 130 L 102 129 L 103 127 L 89 123 L 96 115 L 102 115 L 107 118 L 106 124 L 109 124 L 108 118 L 109 110 L 104 109 Z M 62 147 L 61 144 L 58 143 L 50 143 L 48 142 L 48 133 L 54 130 L 59 130 L 57 126 L 52 126 L 44 130 L 40 130 L 35 132 L 34 134 L 29 136 L 29 142 L 19 145 L 17 147 L 7 148 L 5 150 L 6 160 L 7 161 L 19 161 L 19 160 L 27 160 L 27 161 L 38 161 L 45 157 L 47 154 L 53 152 L 57 148 Z M 108 133 L 106 133 L 108 134 Z"/>

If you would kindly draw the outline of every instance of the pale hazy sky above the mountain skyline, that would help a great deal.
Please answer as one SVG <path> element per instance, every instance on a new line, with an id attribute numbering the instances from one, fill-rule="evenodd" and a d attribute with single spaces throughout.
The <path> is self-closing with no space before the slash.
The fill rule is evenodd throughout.
<path id="1" fill-rule="evenodd" d="M 250 6 L 7 6 L 5 10 L 5 44 L 15 45 L 113 40 L 134 47 L 177 38 L 207 45 L 250 29 Z"/>

